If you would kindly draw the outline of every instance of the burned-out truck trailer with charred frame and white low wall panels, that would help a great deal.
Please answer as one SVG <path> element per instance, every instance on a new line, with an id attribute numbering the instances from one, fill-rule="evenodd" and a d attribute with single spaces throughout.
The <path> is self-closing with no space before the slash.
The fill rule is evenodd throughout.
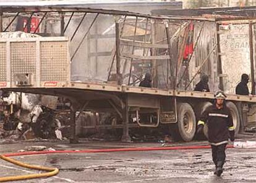
<path id="1" fill-rule="evenodd" d="M 1 11 L 1 22 L 12 17 L 2 32 L 22 16 L 39 19 L 33 31 L 29 23 L 25 27 L 41 35 L 0 39 L 1 90 L 68 98 L 73 140 L 75 112 L 93 111 L 112 117 L 84 129 L 122 128 L 122 140 L 129 140 L 130 127 L 162 127 L 174 139 L 190 141 L 220 89 L 228 94 L 236 134 L 254 127 L 256 97 L 234 95 L 244 72 L 255 94 L 254 20 L 71 7 Z M 139 87 L 146 73 L 151 88 Z M 209 76 L 211 92 L 193 91 L 202 74 Z"/>

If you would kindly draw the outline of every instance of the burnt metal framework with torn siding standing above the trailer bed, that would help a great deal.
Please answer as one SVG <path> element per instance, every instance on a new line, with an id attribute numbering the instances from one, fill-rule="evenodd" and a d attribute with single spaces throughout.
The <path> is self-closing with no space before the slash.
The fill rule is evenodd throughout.
<path id="1" fill-rule="evenodd" d="M 238 10 L 232 11 L 237 12 Z M 239 10 L 239 13 L 242 14 L 244 12 L 247 14 L 248 11 L 254 11 L 254 9 Z M 244 17 L 244 15 L 242 17 L 217 16 L 216 18 L 166 17 L 104 9 L 8 6 L 1 7 L 0 15 L 0 27 L 2 32 L 10 30 L 10 27 L 20 16 L 27 17 L 23 31 L 27 28 L 27 32 L 30 32 L 32 18 L 37 17 L 40 21 L 32 33 L 37 33 L 37 30 L 40 30 L 40 26 L 44 26 L 45 28 L 41 28 L 41 32 L 38 33 L 44 36 L 49 35 L 47 33 L 49 29 L 47 22 L 58 20 L 59 32 L 57 35 L 69 36 L 73 44 L 73 51 L 70 55 L 71 61 L 77 59 L 76 56 L 83 50 L 85 41 L 87 41 L 88 45 L 87 59 L 90 64 L 94 62 L 96 75 L 100 75 L 98 73 L 98 69 L 101 65 L 98 63 L 99 59 L 101 57 L 104 57 L 104 59 L 110 57 L 110 59 L 108 58 L 110 61 L 106 61 L 109 62 L 109 68 L 105 82 L 136 86 L 142 80 L 143 75 L 146 72 L 150 72 L 153 79 L 153 87 L 177 90 L 191 90 L 195 85 L 195 80 L 198 80 L 198 73 L 205 72 L 204 67 L 208 64 L 209 60 L 211 60 L 210 57 L 212 57 L 213 54 L 216 55 L 216 60 L 218 61 L 216 65 L 218 75 L 220 75 L 220 88 L 224 89 L 220 34 L 218 33 L 220 32 L 220 23 L 216 23 L 216 21 L 234 20 L 244 23 L 243 20 L 245 22 L 246 20 L 250 20 L 250 22 L 247 23 L 251 23 L 249 24 L 250 64 L 252 69 L 252 93 L 255 93 L 254 48 L 252 41 L 254 36 L 252 32 L 254 17 Z M 114 31 L 106 35 L 97 33 L 97 29 L 100 26 L 97 24 L 97 21 L 100 19 L 101 15 L 114 16 Z M 6 26 L 3 25 L 3 19 L 5 17 L 12 17 L 7 24 L 5 23 Z M 90 19 L 85 20 L 87 17 Z M 74 22 L 72 23 L 74 19 L 78 20 L 75 22 L 75 25 Z M 43 22 L 44 20 L 45 22 Z M 207 30 L 205 22 L 216 25 L 216 29 L 214 30 L 216 37 L 213 38 L 215 43 L 210 46 L 211 48 L 208 48 L 207 54 L 204 54 L 203 58 L 200 58 L 200 66 L 195 68 L 194 66 L 190 66 L 190 62 L 193 57 L 198 59 L 197 50 L 202 48 L 202 42 L 205 40 L 205 35 L 203 35 L 202 32 Z M 85 23 L 88 25 L 87 30 L 83 30 L 82 28 Z M 189 30 L 191 24 L 194 24 L 194 26 L 198 24 L 200 28 L 197 31 L 191 31 Z M 109 28 L 111 28 L 111 26 Z M 95 32 L 94 34 L 91 33 L 92 29 Z M 83 31 L 82 36 L 78 36 L 79 31 Z M 54 35 L 56 35 L 56 33 L 54 33 Z M 54 35 L 50 33 L 50 36 Z M 114 48 L 109 51 L 98 51 L 100 49 L 99 47 L 101 47 L 98 46 L 99 43 L 102 39 L 106 38 L 111 38 L 112 41 L 115 40 L 113 41 Z M 90 46 L 91 42 L 95 42 L 95 48 Z M 185 59 L 184 51 L 186 51 L 185 49 L 189 45 L 192 45 L 192 52 L 190 52 Z M 201 45 L 201 47 L 198 45 Z M 92 51 L 92 49 L 94 49 L 94 51 Z M 138 65 L 145 66 L 147 64 L 150 66 L 139 69 L 137 67 Z M 113 67 L 114 65 L 115 67 Z M 164 67 L 165 70 L 160 67 Z M 190 69 L 191 67 L 193 68 Z M 189 75 L 191 70 L 197 70 L 197 72 Z"/>

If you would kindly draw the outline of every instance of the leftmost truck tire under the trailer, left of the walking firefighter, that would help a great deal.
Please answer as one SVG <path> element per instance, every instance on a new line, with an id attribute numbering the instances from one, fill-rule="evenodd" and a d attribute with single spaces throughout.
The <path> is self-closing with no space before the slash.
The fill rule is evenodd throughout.
<path id="1" fill-rule="evenodd" d="M 177 104 L 178 120 L 171 126 L 171 137 L 178 141 L 189 142 L 194 138 L 196 121 L 193 108 L 188 103 Z"/>

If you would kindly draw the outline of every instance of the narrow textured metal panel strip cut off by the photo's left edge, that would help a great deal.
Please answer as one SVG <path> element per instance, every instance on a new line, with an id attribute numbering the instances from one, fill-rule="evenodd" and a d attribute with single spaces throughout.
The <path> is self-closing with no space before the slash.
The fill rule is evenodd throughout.
<path id="1" fill-rule="evenodd" d="M 0 43 L 0 82 L 6 82 L 6 43 Z"/>

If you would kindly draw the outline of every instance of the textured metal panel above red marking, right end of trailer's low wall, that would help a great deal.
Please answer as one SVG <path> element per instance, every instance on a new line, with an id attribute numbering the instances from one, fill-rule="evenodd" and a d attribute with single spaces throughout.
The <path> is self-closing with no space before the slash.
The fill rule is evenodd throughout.
<path id="1" fill-rule="evenodd" d="M 66 81 L 69 73 L 67 66 L 66 41 L 41 41 L 40 79 L 41 81 Z"/>

